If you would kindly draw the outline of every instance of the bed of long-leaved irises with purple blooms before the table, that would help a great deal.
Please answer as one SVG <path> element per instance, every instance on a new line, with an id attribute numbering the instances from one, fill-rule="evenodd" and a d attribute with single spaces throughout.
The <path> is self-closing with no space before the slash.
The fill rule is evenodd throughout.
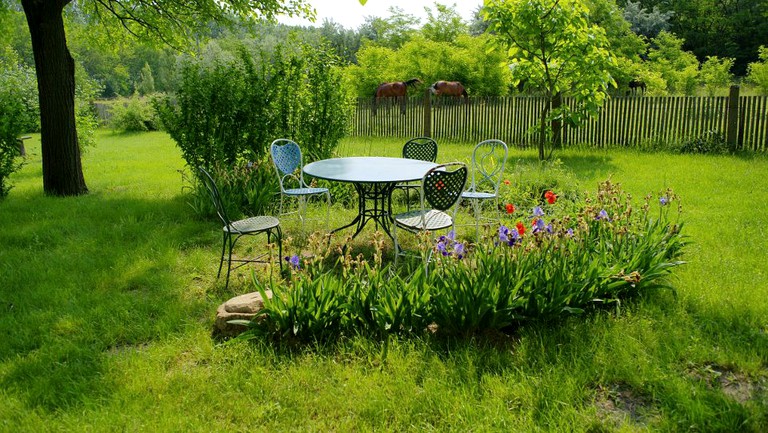
<path id="1" fill-rule="evenodd" d="M 317 248 L 305 263 L 287 258 L 291 275 L 272 282 L 272 300 L 249 323 L 250 336 L 505 330 L 670 287 L 665 277 L 683 263 L 685 245 L 682 225 L 670 221 L 677 200 L 671 190 L 658 195 L 658 211 L 650 195 L 635 210 L 630 196 L 606 181 L 561 218 L 547 216 L 557 206 L 548 197 L 530 218 L 501 226 L 490 242 L 465 245 L 449 234 L 427 244 L 429 272 L 421 264 L 402 273 L 382 268 L 380 237 L 374 266 L 343 255 L 341 269 L 331 272 L 323 268 L 327 251 Z M 266 298 L 264 286 L 258 288 Z"/>

